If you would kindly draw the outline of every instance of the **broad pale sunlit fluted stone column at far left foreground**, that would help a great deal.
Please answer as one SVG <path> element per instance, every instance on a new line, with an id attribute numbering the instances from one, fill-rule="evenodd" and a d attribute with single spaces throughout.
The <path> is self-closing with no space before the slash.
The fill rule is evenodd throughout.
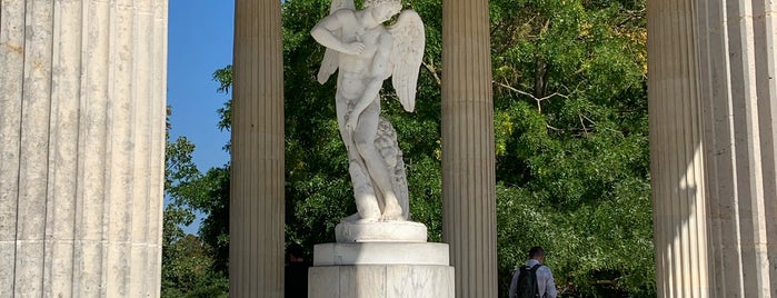
<path id="1" fill-rule="evenodd" d="M 0 2 L 0 297 L 158 297 L 167 1 Z"/>

